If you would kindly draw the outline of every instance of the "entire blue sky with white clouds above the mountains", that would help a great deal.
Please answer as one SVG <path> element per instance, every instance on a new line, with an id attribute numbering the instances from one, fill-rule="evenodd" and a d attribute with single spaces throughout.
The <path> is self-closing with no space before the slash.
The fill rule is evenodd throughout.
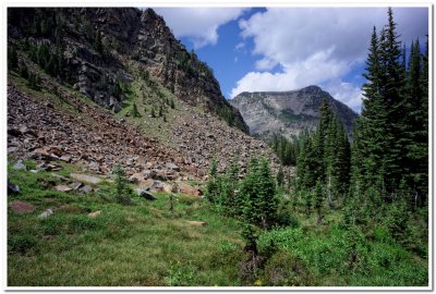
<path id="1" fill-rule="evenodd" d="M 215 73 L 226 98 L 318 85 L 360 112 L 373 26 L 387 8 L 155 8 Z M 425 44 L 427 8 L 393 8 L 400 40 Z"/>

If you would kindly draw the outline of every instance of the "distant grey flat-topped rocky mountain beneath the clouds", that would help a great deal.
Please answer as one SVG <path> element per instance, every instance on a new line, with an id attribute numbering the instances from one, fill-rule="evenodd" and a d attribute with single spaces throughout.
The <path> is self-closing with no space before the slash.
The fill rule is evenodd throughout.
<path id="1" fill-rule="evenodd" d="M 358 114 L 317 86 L 291 91 L 244 91 L 230 102 L 239 109 L 252 135 L 268 138 L 274 133 L 291 137 L 314 128 L 324 98 L 351 134 Z"/>

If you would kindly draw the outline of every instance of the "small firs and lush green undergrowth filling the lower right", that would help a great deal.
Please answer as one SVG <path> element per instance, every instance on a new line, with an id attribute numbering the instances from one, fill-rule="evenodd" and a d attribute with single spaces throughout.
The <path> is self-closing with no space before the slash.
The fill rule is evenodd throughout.
<path id="1" fill-rule="evenodd" d="M 358 216 L 365 212 L 356 203 L 342 209 L 338 201 L 328 205 L 329 189 L 320 177 L 313 189 L 280 192 L 262 162 L 265 160 L 253 158 L 249 173 L 238 182 L 230 180 L 234 168 L 219 174 L 218 162 L 213 160 L 206 187 L 214 210 L 218 207 L 221 215 L 242 221 L 244 250 L 250 253 L 240 264 L 242 285 L 428 283 L 427 232 L 417 225 L 425 210 L 416 212 L 421 217 L 409 219 L 405 204 L 399 203 L 384 207 L 384 222 L 367 217 L 363 222 Z M 228 192 L 229 185 L 235 193 Z"/>

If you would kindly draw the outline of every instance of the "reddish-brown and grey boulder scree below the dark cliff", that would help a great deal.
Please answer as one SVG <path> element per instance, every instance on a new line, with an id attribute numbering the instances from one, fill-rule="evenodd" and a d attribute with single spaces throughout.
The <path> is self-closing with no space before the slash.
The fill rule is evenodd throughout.
<path id="1" fill-rule="evenodd" d="M 220 171 L 237 159 L 241 173 L 253 156 L 278 159 L 265 143 L 256 140 L 226 122 L 194 111 L 189 105 L 175 118 L 171 128 L 173 148 L 147 137 L 124 119 L 98 106 L 87 103 L 52 81 L 45 88 L 57 88 L 68 112 L 41 97 L 24 94 L 8 85 L 8 154 L 17 159 L 62 160 L 80 164 L 90 173 L 109 175 L 120 162 L 132 182 L 146 180 L 206 180 L 209 161 L 217 156 Z M 52 167 L 53 168 L 53 167 Z"/>

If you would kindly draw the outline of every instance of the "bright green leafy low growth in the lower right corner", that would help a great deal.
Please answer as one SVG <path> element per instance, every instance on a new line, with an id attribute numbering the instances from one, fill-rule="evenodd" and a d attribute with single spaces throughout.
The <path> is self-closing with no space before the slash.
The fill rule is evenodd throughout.
<path id="1" fill-rule="evenodd" d="M 314 213 L 313 213 L 314 215 Z M 315 224 L 311 216 L 300 228 L 272 230 L 261 235 L 263 253 L 284 250 L 302 261 L 310 273 L 304 285 L 315 286 L 425 286 L 427 261 L 391 238 L 377 238 L 340 225 L 339 213 Z M 354 258 L 353 258 L 353 254 Z M 274 256 L 275 254 L 272 254 Z"/>

